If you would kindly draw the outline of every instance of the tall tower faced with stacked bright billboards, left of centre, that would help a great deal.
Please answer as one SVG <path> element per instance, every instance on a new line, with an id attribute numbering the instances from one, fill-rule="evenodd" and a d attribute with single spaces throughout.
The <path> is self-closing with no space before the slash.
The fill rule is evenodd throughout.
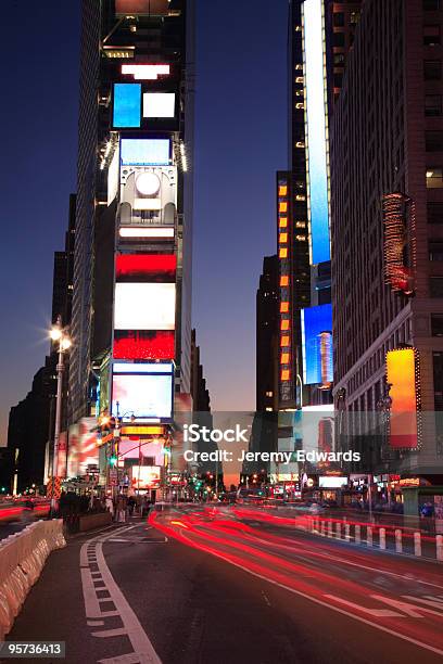
<path id="1" fill-rule="evenodd" d="M 192 0 L 84 0 L 80 60 L 69 420 L 170 419 L 136 384 L 190 393 Z"/>

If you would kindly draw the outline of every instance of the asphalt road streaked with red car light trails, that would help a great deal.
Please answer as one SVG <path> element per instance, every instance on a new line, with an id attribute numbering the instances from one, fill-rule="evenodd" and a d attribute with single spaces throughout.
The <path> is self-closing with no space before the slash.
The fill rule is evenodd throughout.
<path id="1" fill-rule="evenodd" d="M 8 639 L 73 664 L 441 662 L 443 566 L 183 508 L 52 553 Z"/>

